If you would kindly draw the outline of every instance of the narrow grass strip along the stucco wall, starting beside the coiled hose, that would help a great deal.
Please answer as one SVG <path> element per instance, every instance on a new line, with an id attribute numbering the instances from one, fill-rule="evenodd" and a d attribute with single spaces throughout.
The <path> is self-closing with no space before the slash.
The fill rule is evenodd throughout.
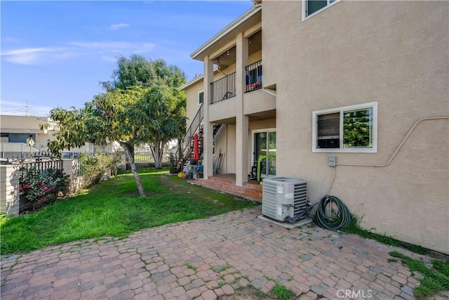
<path id="1" fill-rule="evenodd" d="M 411 252 L 415 252 L 417 254 L 427 254 L 427 249 L 415 245 L 415 244 L 407 244 L 406 242 L 401 242 L 400 240 L 396 240 L 394 237 L 391 237 L 389 235 L 380 235 L 377 233 L 373 233 L 371 230 L 366 230 L 360 227 L 361 218 L 355 215 L 351 215 L 352 222 L 351 224 L 344 229 L 345 233 L 353 233 L 356 235 L 359 235 L 363 238 L 370 239 L 370 240 L 377 240 L 377 242 L 382 242 L 383 244 L 389 244 L 390 246 L 395 247 L 403 247 L 405 249 L 410 250 Z"/>

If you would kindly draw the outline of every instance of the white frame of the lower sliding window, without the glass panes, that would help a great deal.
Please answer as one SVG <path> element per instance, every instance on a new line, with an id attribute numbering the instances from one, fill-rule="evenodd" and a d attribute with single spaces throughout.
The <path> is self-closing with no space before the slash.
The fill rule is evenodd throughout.
<path id="1" fill-rule="evenodd" d="M 373 147 L 371 148 L 343 148 L 343 112 L 350 110 L 361 110 L 363 108 L 371 108 L 373 110 Z M 316 148 L 318 140 L 318 116 L 330 113 L 340 112 L 340 148 Z M 358 105 L 336 107 L 328 110 L 316 110 L 312 112 L 312 152 L 350 152 L 350 153 L 377 153 L 377 102 L 363 103 Z"/>

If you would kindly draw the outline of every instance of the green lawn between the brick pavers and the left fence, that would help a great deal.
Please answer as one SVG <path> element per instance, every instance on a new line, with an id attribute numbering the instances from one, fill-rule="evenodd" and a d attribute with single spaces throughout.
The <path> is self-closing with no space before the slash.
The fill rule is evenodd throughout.
<path id="1" fill-rule="evenodd" d="M 1 254 L 92 237 L 126 237 L 135 230 L 257 205 L 163 172 L 166 169 L 140 170 L 147 197 L 138 197 L 134 177 L 123 174 L 41 211 L 2 217 Z"/>

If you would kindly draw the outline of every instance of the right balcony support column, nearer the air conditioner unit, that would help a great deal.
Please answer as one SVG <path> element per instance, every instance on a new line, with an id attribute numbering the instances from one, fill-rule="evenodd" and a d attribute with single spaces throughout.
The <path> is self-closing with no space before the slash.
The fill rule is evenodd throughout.
<path id="1" fill-rule="evenodd" d="M 243 114 L 243 95 L 246 91 L 245 66 L 248 65 L 248 39 L 240 33 L 236 37 L 236 185 L 248 181 L 249 119 Z"/>

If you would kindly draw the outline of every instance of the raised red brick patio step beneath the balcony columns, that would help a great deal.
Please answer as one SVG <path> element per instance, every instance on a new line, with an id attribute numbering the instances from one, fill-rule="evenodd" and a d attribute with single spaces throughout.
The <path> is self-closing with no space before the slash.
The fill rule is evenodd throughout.
<path id="1" fill-rule="evenodd" d="M 217 174 L 208 179 L 199 178 L 189 182 L 249 200 L 262 202 L 262 185 L 257 183 L 257 181 L 250 181 L 243 183 L 243 187 L 238 186 L 236 185 L 235 174 Z"/>

